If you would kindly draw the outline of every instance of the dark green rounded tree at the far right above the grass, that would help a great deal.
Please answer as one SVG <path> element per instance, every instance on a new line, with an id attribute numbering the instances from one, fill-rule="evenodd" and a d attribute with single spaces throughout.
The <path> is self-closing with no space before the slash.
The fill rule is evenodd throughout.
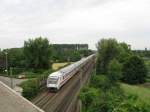
<path id="1" fill-rule="evenodd" d="M 145 82 L 147 69 L 144 61 L 138 56 L 131 56 L 123 65 L 123 81 L 129 84 Z"/>

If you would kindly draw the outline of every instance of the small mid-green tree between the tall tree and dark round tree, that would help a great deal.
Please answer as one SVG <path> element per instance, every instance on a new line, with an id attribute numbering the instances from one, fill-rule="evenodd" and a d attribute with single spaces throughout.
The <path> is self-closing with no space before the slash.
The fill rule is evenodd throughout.
<path id="1" fill-rule="evenodd" d="M 121 64 L 116 59 L 110 61 L 107 75 L 112 84 L 116 83 L 121 78 L 122 67 Z"/>

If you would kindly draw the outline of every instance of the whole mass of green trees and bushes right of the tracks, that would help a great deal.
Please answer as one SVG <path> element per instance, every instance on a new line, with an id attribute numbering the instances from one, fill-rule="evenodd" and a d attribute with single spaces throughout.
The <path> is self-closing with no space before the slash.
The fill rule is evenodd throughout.
<path id="1" fill-rule="evenodd" d="M 149 112 L 149 90 L 120 85 L 122 80 L 132 84 L 143 83 L 147 75 L 144 61 L 133 55 L 127 44 L 118 43 L 115 39 L 100 40 L 97 49 L 96 73 L 80 92 L 82 111 Z M 142 91 L 146 92 L 145 95 Z M 148 102 L 141 100 L 142 97 Z"/>

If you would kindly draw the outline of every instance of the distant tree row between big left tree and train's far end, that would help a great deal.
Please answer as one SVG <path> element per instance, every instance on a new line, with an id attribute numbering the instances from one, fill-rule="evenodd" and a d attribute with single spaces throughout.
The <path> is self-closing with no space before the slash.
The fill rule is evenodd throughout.
<path id="1" fill-rule="evenodd" d="M 54 44 L 50 46 L 52 49 L 51 58 L 53 62 L 74 62 L 93 53 L 88 50 L 88 47 L 87 49 L 81 49 L 82 46 L 84 47 L 84 44 Z"/>

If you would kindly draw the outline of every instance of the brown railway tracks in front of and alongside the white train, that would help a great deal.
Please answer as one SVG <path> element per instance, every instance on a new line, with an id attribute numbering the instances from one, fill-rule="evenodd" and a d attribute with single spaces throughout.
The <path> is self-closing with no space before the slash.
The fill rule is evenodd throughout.
<path id="1" fill-rule="evenodd" d="M 88 62 L 82 68 L 82 77 L 90 74 L 92 62 Z M 81 73 L 76 73 L 57 93 L 45 89 L 32 102 L 43 109 L 45 112 L 66 112 L 74 97 L 77 97 L 81 87 Z M 83 78 L 84 79 L 84 78 Z M 83 80 L 85 82 L 87 78 Z M 69 111 L 68 111 L 69 112 Z"/>

